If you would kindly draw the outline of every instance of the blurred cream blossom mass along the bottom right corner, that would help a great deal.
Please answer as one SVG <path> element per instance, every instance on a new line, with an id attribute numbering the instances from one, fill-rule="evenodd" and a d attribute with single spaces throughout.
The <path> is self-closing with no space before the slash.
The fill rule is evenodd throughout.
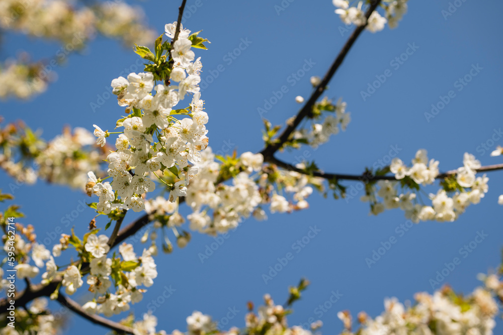
<path id="1" fill-rule="evenodd" d="M 501 289 L 495 275 L 486 285 Z M 358 314 L 361 324 L 358 331 L 351 329 L 352 316 L 349 311 L 339 312 L 346 330 L 343 334 L 492 334 L 496 325 L 494 318 L 499 313 L 494 299 L 493 287 L 478 287 L 470 295 L 456 294 L 445 286 L 433 295 L 416 293 L 416 303 L 405 307 L 396 298 L 385 299 L 384 311 L 376 318 L 365 312 Z"/>

